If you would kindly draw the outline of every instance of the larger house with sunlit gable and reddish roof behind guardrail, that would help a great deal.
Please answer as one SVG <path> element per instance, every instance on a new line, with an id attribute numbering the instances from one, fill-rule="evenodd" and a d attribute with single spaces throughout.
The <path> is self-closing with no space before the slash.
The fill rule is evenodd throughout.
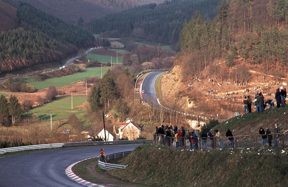
<path id="1" fill-rule="evenodd" d="M 141 128 L 132 119 L 127 118 L 118 126 L 117 139 L 128 138 L 128 140 L 136 140 L 141 134 Z"/>

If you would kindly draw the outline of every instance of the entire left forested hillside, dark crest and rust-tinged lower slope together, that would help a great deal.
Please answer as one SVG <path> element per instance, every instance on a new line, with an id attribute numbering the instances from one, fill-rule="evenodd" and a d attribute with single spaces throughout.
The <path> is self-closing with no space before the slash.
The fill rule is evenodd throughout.
<path id="1" fill-rule="evenodd" d="M 55 61 L 95 42 L 92 34 L 29 4 L 17 8 L 19 27 L 0 34 L 0 73 Z"/>

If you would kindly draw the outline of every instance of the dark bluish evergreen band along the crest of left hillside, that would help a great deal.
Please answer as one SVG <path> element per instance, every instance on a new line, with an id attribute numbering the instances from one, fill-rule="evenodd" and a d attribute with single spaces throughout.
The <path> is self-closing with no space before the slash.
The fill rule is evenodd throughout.
<path id="1" fill-rule="evenodd" d="M 77 47 L 87 47 L 95 41 L 94 36 L 86 30 L 46 14 L 29 4 L 20 4 L 17 9 L 17 16 L 20 23 L 26 22 L 33 25 L 36 29 L 63 43 L 71 43 Z"/>

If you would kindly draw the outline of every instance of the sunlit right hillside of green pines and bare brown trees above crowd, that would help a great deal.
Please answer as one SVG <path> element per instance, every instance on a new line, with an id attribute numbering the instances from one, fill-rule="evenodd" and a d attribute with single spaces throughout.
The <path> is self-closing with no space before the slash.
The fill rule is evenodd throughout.
<path id="1" fill-rule="evenodd" d="M 221 0 L 217 10 L 214 22 L 205 21 L 198 13 L 184 24 L 178 62 L 183 65 L 185 80 L 191 81 L 203 68 L 216 70 L 215 77 L 242 83 L 249 81 L 247 71 L 252 69 L 263 81 L 268 74 L 275 81 L 285 77 L 287 0 Z M 224 63 L 209 67 L 215 60 Z"/>

